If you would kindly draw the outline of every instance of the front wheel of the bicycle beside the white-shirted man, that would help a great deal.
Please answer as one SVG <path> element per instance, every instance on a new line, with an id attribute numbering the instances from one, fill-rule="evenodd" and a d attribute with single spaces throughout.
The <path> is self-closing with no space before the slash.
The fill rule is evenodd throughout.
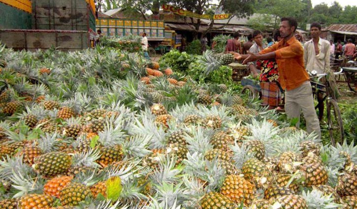
<path id="1" fill-rule="evenodd" d="M 333 99 L 327 101 L 327 125 L 331 143 L 336 146 L 336 142 L 343 142 L 344 130 L 340 109 Z"/>

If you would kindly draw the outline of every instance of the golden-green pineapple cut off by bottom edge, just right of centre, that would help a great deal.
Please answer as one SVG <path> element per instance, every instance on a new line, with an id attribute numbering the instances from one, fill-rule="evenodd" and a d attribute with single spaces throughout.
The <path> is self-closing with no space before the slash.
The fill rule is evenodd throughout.
<path id="1" fill-rule="evenodd" d="M 226 196 L 217 193 L 209 192 L 203 196 L 200 201 L 202 209 L 235 209 L 234 202 Z"/>

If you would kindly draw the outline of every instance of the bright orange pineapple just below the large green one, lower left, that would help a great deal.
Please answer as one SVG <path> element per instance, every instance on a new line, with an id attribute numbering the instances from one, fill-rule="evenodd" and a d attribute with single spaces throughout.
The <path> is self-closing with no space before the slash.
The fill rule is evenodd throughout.
<path id="1" fill-rule="evenodd" d="M 43 193 L 52 197 L 60 198 L 60 192 L 67 186 L 73 177 L 58 176 L 46 182 L 43 187 Z"/>

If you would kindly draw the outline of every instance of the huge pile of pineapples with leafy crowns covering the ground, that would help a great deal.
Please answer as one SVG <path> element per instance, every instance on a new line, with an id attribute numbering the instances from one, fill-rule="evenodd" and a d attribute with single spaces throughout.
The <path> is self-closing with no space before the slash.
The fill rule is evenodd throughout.
<path id="1" fill-rule="evenodd" d="M 138 54 L 0 48 L 1 209 L 353 209 L 357 146 Z"/>

